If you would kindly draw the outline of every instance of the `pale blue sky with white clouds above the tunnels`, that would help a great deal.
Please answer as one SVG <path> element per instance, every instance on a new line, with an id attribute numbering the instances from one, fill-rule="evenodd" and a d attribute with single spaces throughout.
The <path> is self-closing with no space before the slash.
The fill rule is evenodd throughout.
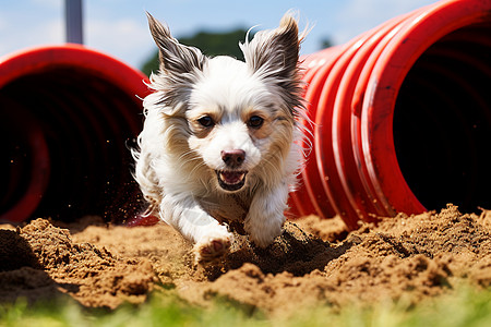
<path id="1" fill-rule="evenodd" d="M 435 0 L 84 0 L 85 45 L 135 68 L 152 55 L 145 11 L 167 22 L 176 37 L 200 29 L 274 28 L 289 9 L 300 25 L 314 25 L 302 53 L 319 50 L 321 40 L 344 44 L 396 15 Z M 27 47 L 64 41 L 64 0 L 0 0 L 0 56 Z"/>

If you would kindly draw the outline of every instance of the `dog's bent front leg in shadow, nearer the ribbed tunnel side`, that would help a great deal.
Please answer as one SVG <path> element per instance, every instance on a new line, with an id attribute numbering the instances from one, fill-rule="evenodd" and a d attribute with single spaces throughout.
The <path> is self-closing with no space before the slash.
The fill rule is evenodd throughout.
<path id="1" fill-rule="evenodd" d="M 254 244 L 266 247 L 282 234 L 288 192 L 286 183 L 258 190 L 244 221 L 244 229 Z"/>

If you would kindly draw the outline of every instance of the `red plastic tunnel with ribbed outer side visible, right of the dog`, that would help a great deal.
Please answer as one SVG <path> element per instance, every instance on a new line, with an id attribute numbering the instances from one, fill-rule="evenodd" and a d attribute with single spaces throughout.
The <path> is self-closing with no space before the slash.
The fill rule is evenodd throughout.
<path id="1" fill-rule="evenodd" d="M 491 1 L 440 1 L 303 58 L 300 215 L 491 208 Z"/>

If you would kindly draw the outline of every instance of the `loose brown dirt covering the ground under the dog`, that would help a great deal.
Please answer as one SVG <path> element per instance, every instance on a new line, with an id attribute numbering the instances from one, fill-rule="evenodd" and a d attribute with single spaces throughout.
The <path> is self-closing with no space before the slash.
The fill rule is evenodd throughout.
<path id="1" fill-rule="evenodd" d="M 335 217 L 285 225 L 265 250 L 236 235 L 226 258 L 195 266 L 191 244 L 165 223 L 107 225 L 97 217 L 62 225 L 37 219 L 0 226 L 0 302 L 72 296 L 84 306 L 142 303 L 172 292 L 207 306 L 288 315 L 303 306 L 416 303 L 456 284 L 491 286 L 491 211 L 399 214 L 348 233 Z"/>

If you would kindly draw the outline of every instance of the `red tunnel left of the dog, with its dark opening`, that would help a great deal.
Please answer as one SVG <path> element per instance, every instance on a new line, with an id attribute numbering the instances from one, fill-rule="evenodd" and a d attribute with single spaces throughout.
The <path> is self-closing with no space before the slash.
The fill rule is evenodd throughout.
<path id="1" fill-rule="evenodd" d="M 124 215 L 146 76 L 77 45 L 0 58 L 0 220 Z"/>

